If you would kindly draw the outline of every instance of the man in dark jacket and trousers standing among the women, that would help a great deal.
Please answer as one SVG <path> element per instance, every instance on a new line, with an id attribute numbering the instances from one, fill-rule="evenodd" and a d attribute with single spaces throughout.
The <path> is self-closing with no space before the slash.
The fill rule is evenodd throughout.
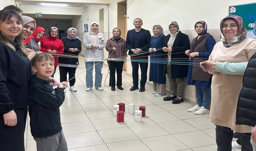
<path id="1" fill-rule="evenodd" d="M 141 80 L 140 80 L 140 89 L 139 92 L 145 91 L 145 84 L 147 82 L 147 71 L 148 71 L 148 60 L 149 53 L 147 52 L 150 47 L 151 34 L 148 30 L 142 29 L 143 25 L 142 20 L 140 18 L 136 18 L 133 21 L 133 25 L 135 29 L 129 30 L 127 32 L 126 37 L 126 46 L 129 49 L 128 54 L 131 56 L 131 64 L 132 64 L 132 83 L 133 86 L 130 88 L 130 91 L 134 91 L 138 88 L 139 81 L 139 66 L 141 71 Z M 138 55 L 134 55 L 139 53 Z M 136 61 L 138 59 L 138 61 Z"/>

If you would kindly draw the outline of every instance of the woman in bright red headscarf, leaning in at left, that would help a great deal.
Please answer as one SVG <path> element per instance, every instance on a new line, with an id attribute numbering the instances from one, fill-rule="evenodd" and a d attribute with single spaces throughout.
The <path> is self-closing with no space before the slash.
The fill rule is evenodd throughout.
<path id="1" fill-rule="evenodd" d="M 33 34 L 24 40 L 26 48 L 29 48 L 34 51 L 40 51 L 41 49 L 40 39 L 43 38 L 44 35 L 45 35 L 44 28 L 36 27 Z"/>

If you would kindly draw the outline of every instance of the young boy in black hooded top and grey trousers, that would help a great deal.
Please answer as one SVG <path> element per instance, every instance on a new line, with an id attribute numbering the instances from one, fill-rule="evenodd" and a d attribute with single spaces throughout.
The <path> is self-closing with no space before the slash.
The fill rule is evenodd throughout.
<path id="1" fill-rule="evenodd" d="M 67 82 L 53 89 L 47 80 L 54 73 L 54 58 L 50 54 L 36 54 L 31 59 L 36 77 L 29 80 L 29 116 L 31 134 L 37 151 L 67 151 L 67 142 L 62 132 L 60 109 Z"/>

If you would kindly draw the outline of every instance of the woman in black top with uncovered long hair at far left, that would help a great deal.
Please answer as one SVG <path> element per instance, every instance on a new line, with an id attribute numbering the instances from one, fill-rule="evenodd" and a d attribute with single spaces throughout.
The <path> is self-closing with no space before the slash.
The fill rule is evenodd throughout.
<path id="1" fill-rule="evenodd" d="M 3 151 L 24 151 L 32 71 L 22 39 L 22 18 L 13 10 L 0 11 L 0 50 L 0 146 Z"/>

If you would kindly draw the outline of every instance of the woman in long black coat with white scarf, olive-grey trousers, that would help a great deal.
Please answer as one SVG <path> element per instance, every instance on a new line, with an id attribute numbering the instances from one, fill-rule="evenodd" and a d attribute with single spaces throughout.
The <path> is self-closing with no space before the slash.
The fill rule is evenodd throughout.
<path id="1" fill-rule="evenodd" d="M 170 34 L 166 36 L 164 41 L 163 51 L 168 52 L 165 56 L 168 64 L 165 64 L 169 83 L 170 83 L 170 95 L 164 97 L 164 101 L 171 101 L 172 104 L 179 104 L 184 102 L 183 93 L 185 87 L 185 80 L 188 76 L 188 65 L 182 65 L 184 59 L 188 59 L 185 51 L 190 49 L 190 42 L 188 35 L 183 34 L 180 31 L 179 25 L 176 21 L 171 21 L 168 25 Z M 164 70 L 165 73 L 165 70 Z"/>

